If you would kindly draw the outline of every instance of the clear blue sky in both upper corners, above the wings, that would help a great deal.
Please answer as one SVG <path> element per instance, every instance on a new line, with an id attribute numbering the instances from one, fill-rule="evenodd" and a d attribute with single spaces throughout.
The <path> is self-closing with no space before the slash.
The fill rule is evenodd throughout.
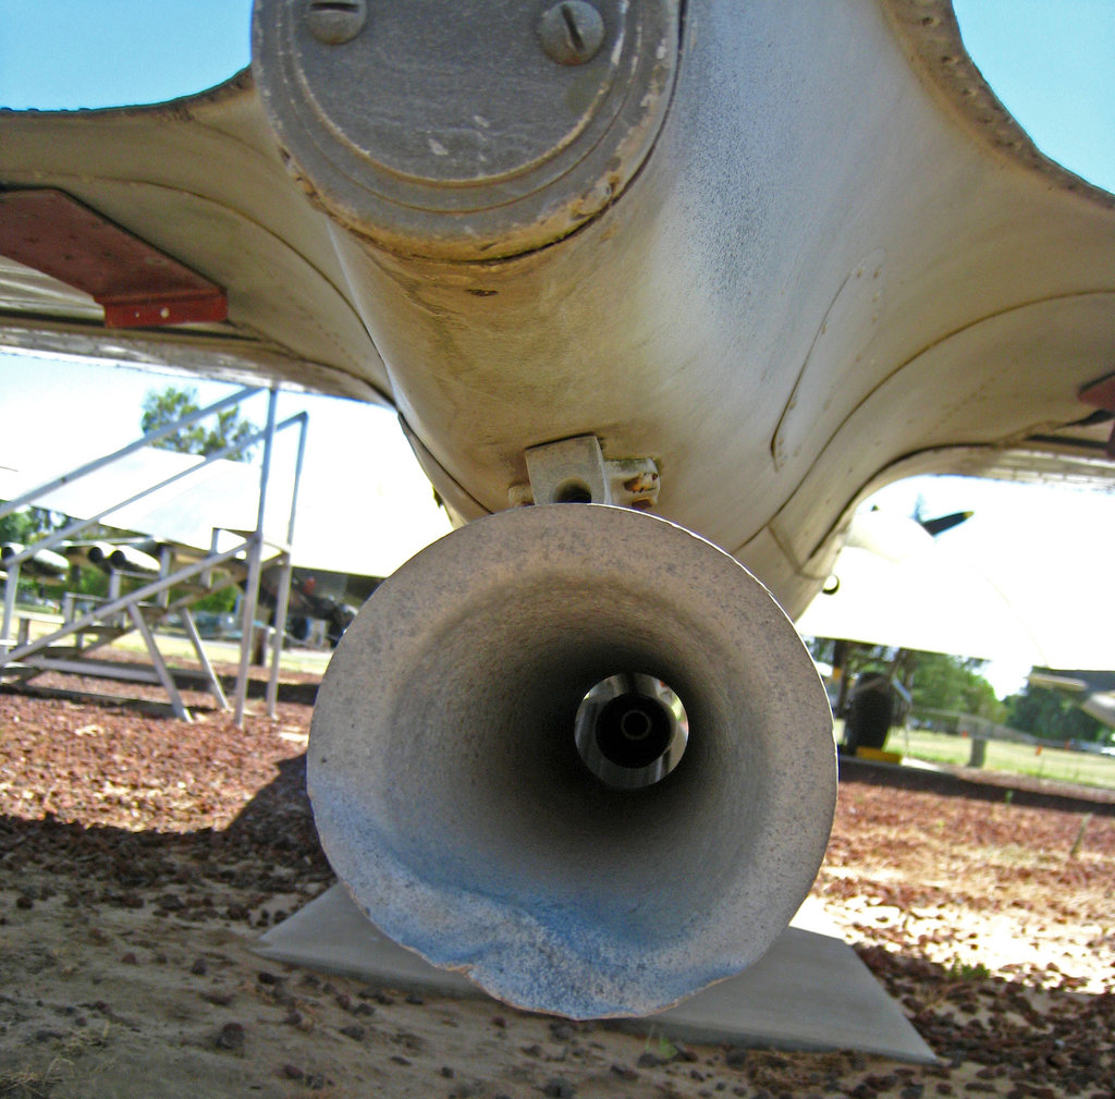
<path id="1" fill-rule="evenodd" d="M 1038 144 L 1115 190 L 1115 2 L 954 6 L 969 51 Z M 211 87 L 248 64 L 251 7 L 251 0 L 0 0 L 0 105 L 117 106 Z"/>

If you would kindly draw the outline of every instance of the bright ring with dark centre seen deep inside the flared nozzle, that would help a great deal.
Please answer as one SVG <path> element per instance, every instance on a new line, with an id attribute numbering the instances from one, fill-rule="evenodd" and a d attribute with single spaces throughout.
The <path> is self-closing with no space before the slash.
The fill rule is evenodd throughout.
<path id="1" fill-rule="evenodd" d="M 610 675 L 576 712 L 576 750 L 585 767 L 613 790 L 640 790 L 666 778 L 689 740 L 681 700 L 642 673 Z"/>

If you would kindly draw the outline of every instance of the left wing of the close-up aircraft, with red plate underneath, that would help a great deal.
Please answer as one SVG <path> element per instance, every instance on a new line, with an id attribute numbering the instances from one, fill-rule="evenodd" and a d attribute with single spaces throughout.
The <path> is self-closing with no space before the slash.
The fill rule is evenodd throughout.
<path id="1" fill-rule="evenodd" d="M 0 112 L 0 349 L 388 403 L 328 219 L 284 168 L 249 73 L 154 107 Z M 48 235 L 59 206 L 37 214 L 27 201 L 48 190 L 90 214 L 68 239 Z M 128 254 L 117 240 L 110 247 L 123 254 L 98 251 L 105 223 L 148 254 Z M 77 253 L 66 273 L 78 285 L 42 270 L 65 249 Z M 227 319 L 161 325 L 149 272 L 168 262 L 223 291 Z M 106 326 L 94 297 L 106 270 L 154 307 L 154 322 Z"/>

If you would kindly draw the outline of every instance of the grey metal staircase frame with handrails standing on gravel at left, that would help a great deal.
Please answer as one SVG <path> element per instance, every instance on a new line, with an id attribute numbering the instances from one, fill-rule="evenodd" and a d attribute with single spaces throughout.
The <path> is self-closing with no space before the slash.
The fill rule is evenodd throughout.
<path id="1" fill-rule="evenodd" d="M 72 484 L 75 481 L 97 470 L 105 469 L 145 446 L 152 446 L 183 427 L 193 426 L 205 417 L 216 415 L 223 409 L 232 407 L 260 392 L 262 391 L 258 388 L 241 389 L 221 401 L 214 402 L 205 408 L 183 416 L 172 424 L 148 432 L 142 438 L 129 443 L 127 446 L 112 454 L 95 459 L 70 473 L 55 478 L 29 492 L 25 492 L 14 500 L 9 500 L 7 503 L 0 504 L 0 518 L 20 508 L 35 505 L 56 489 Z M 205 652 L 205 646 L 197 630 L 197 624 L 194 620 L 191 606 L 214 591 L 220 591 L 233 584 L 237 584 L 240 578 L 243 577 L 244 592 L 241 600 L 240 662 L 236 673 L 235 694 L 231 707 L 234 712 L 236 724 L 242 725 L 248 701 L 252 646 L 256 629 L 255 615 L 260 602 L 260 581 L 263 576 L 264 566 L 269 568 L 278 567 L 280 573 L 274 609 L 275 630 L 271 645 L 271 668 L 265 693 L 268 715 L 274 717 L 279 698 L 279 671 L 282 656 L 283 624 L 287 619 L 287 609 L 290 600 L 292 571 L 291 543 L 294 538 L 298 491 L 302 475 L 302 463 L 306 456 L 306 434 L 309 421 L 308 415 L 301 412 L 282 422 L 277 422 L 277 411 L 278 391 L 272 388 L 268 401 L 266 425 L 262 430 L 254 431 L 242 441 L 207 455 L 203 461 L 186 470 L 164 478 L 146 489 L 133 493 L 127 499 L 112 504 L 109 508 L 101 509 L 90 518 L 76 520 L 57 531 L 52 531 L 33 544 L 27 546 L 10 556 L 3 562 L 7 575 L 4 578 L 3 620 L 2 628 L 0 628 L 0 679 L 17 678 L 21 682 L 27 682 L 37 675 L 41 675 L 43 672 L 57 671 L 120 681 L 132 679 L 158 683 L 166 691 L 174 713 L 178 717 L 190 721 L 190 711 L 183 703 L 174 674 L 167 667 L 166 661 L 159 652 L 153 630 L 154 626 L 157 626 L 169 615 L 176 614 L 181 618 L 186 637 L 197 656 L 197 661 L 202 667 L 202 675 L 207 683 L 210 692 L 222 710 L 229 710 L 227 698 Z M 279 432 L 293 426 L 298 426 L 299 430 L 298 455 L 294 463 L 285 540 L 278 542 L 268 539 L 264 533 L 264 515 L 268 489 L 271 480 L 271 463 L 275 436 Z M 241 453 L 261 442 L 263 444 L 263 456 L 260 464 L 255 527 L 249 531 L 232 531 L 241 541 L 231 548 L 217 551 L 217 534 L 222 528 L 215 528 L 209 552 L 204 553 L 197 561 L 171 571 L 169 555 L 164 552 L 159 559 L 158 577 L 149 582 L 143 584 L 135 590 L 123 595 L 119 594 L 118 589 L 114 588 L 107 601 L 101 602 L 87 614 L 65 620 L 58 629 L 52 630 L 43 637 L 31 640 L 27 630 L 26 619 L 19 626 L 18 636 L 13 636 L 12 627 L 16 625 L 17 619 L 16 595 L 19 587 L 21 565 L 31 560 L 41 550 L 54 550 L 64 542 L 79 537 L 84 531 L 106 520 L 122 508 L 133 504 L 175 482 L 193 476 L 201 470 L 211 466 L 214 462 Z M 214 577 L 214 570 L 222 566 L 226 569 L 233 567 L 232 575 L 225 572 L 223 576 Z M 173 588 L 194 580 L 200 581 L 195 592 L 180 596 L 173 600 L 171 599 L 171 590 Z M 147 655 L 151 658 L 149 668 L 120 665 L 117 662 L 94 662 L 89 659 L 90 654 L 96 649 L 110 644 L 113 640 L 132 630 L 136 630 L 143 638 Z M 89 639 L 90 635 L 91 640 Z M 69 639 L 70 644 L 61 648 L 60 643 L 67 639 Z"/>

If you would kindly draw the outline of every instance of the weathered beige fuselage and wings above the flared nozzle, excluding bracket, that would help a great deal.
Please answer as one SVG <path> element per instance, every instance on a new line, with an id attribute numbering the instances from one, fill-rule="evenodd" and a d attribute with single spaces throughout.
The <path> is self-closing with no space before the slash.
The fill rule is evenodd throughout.
<path id="1" fill-rule="evenodd" d="M 792 613 L 886 481 L 1112 482 L 1115 200 L 1032 146 L 948 3 L 663 2 L 583 67 L 523 16 L 458 12 L 476 50 L 442 56 L 417 9 L 336 48 L 285 10 L 210 93 L 0 114 L 0 222 L 55 189 L 226 319 L 106 327 L 25 241 L 0 346 L 394 404 L 465 519 L 595 434 Z"/>

